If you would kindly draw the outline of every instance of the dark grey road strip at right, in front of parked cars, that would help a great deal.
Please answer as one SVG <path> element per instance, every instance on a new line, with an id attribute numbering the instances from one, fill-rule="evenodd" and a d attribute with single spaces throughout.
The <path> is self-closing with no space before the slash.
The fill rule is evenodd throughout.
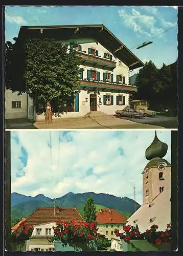
<path id="1" fill-rule="evenodd" d="M 177 117 L 172 116 L 161 116 L 157 115 L 154 117 L 141 117 L 141 118 L 131 118 L 131 117 L 118 117 L 121 119 L 130 120 L 136 123 L 145 123 L 151 125 L 158 125 L 169 129 L 177 129 L 178 121 Z"/>

